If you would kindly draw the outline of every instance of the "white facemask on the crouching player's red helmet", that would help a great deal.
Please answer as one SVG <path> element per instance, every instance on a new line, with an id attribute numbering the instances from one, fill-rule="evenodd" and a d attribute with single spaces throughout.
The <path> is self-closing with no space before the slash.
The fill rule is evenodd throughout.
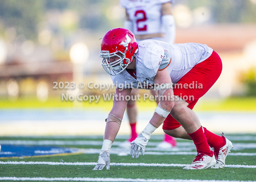
<path id="1" fill-rule="evenodd" d="M 121 56 L 119 56 L 117 54 L 118 52 L 121 53 Z M 102 63 L 101 63 L 102 67 L 111 76 L 121 73 L 122 71 L 125 70 L 125 68 L 127 68 L 128 64 L 131 63 L 131 61 L 128 58 L 126 58 L 125 54 L 121 51 L 116 51 L 113 53 L 109 53 L 109 51 L 100 51 L 99 56 L 101 58 L 103 58 Z M 117 56 L 119 59 L 110 63 L 109 58 L 111 58 L 113 56 Z M 128 63 L 124 64 L 125 62 L 128 62 Z"/>

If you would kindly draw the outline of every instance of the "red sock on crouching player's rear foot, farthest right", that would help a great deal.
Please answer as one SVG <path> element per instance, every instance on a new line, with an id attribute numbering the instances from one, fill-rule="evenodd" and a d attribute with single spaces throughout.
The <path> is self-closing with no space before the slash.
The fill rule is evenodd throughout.
<path id="1" fill-rule="evenodd" d="M 204 129 L 204 135 L 207 138 L 207 142 L 210 147 L 213 147 L 214 150 L 218 150 L 219 148 L 223 147 L 225 145 L 225 141 L 223 137 L 220 137 L 218 135 L 215 135 L 211 131 L 208 131 L 205 127 Z"/>

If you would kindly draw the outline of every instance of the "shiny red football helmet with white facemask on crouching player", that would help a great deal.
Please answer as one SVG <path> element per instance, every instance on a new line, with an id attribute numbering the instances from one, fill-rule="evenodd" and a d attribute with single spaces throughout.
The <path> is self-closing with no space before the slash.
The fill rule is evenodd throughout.
<path id="1" fill-rule="evenodd" d="M 118 52 L 121 53 L 121 56 L 117 55 Z M 137 52 L 138 44 L 134 34 L 125 28 L 114 28 L 103 36 L 99 56 L 103 58 L 104 70 L 114 76 L 125 70 Z M 117 56 L 119 59 L 110 63 L 109 58 L 113 56 Z"/>

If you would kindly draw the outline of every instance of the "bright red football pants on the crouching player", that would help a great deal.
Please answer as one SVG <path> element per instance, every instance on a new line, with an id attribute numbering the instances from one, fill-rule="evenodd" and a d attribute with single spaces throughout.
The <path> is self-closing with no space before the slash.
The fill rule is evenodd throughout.
<path id="1" fill-rule="evenodd" d="M 187 74 L 182 76 L 177 82 L 179 87 L 175 87 L 174 85 L 174 95 L 180 96 L 181 98 L 188 98 L 186 99 L 186 102 L 188 103 L 188 108 L 192 110 L 198 99 L 206 94 L 217 81 L 219 75 L 221 75 L 221 71 L 221 58 L 215 51 L 213 51 L 209 58 L 196 64 Z M 185 88 L 184 84 L 186 84 Z M 188 87 L 189 84 L 191 84 L 190 86 L 192 88 Z M 163 130 L 173 130 L 180 126 L 181 124 L 170 114 L 163 122 Z"/>

